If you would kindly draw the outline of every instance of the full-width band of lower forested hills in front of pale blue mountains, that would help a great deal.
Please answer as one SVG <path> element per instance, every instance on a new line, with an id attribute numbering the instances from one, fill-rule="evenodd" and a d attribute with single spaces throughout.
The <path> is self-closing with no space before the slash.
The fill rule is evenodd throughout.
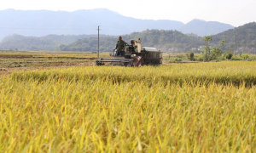
<path id="1" fill-rule="evenodd" d="M 212 36 L 212 47 L 219 46 L 219 42 L 224 39 L 226 44 L 222 49 L 227 51 L 235 48 L 237 36 L 237 48 L 256 48 L 256 23 L 249 23 L 239 26 L 234 30 L 224 31 Z M 191 48 L 199 48 L 205 45 L 202 37 L 188 36 L 180 31 L 147 30 L 142 32 L 132 32 L 129 35 L 122 35 L 125 42 L 130 43 L 131 39 L 141 37 L 143 46 L 157 48 L 179 48 L 179 52 L 187 52 Z M 118 36 L 100 36 L 100 51 L 109 52 L 113 50 Z M 12 35 L 5 37 L 0 42 L 0 49 L 18 48 L 29 50 L 62 50 L 62 51 L 96 51 L 96 35 L 48 35 L 46 37 L 23 37 Z"/>

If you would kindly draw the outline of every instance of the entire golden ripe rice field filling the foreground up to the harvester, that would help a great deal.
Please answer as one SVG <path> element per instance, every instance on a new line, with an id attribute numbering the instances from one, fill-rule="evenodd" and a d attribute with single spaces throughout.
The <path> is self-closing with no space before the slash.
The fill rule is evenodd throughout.
<path id="1" fill-rule="evenodd" d="M 2 152 L 254 152 L 256 63 L 1 77 Z"/>

